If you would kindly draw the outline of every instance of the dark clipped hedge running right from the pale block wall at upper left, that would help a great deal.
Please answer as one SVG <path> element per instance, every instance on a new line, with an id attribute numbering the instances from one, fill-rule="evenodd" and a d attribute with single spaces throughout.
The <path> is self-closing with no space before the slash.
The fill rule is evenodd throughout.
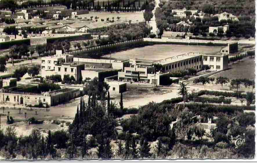
<path id="1" fill-rule="evenodd" d="M 60 42 L 60 41 L 64 41 L 64 40 L 75 41 L 75 40 L 88 40 L 88 39 L 91 39 L 91 34 L 83 34 L 83 35 L 67 36 L 67 37 L 51 37 L 51 38 L 47 38 L 46 42 L 53 43 L 55 41 Z"/>

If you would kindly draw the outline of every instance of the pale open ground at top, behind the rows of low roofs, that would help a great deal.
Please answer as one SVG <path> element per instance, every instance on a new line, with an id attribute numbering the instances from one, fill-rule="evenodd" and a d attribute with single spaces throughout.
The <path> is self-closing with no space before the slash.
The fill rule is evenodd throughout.
<path id="1" fill-rule="evenodd" d="M 99 2 L 100 3 L 100 2 Z M 140 12 L 120 12 L 120 13 L 111 13 L 111 12 L 89 12 L 89 14 L 81 14 L 78 15 L 78 17 L 82 17 L 82 18 L 90 18 L 91 16 L 93 16 L 93 19 L 95 18 L 95 16 L 99 17 L 98 21 L 101 21 L 101 19 L 106 20 L 106 18 L 108 17 L 109 20 L 112 20 L 112 17 L 114 17 L 114 20 L 117 21 L 117 17 L 120 17 L 120 21 L 128 21 L 128 20 L 132 20 L 132 21 L 144 21 L 144 16 L 143 13 Z"/>

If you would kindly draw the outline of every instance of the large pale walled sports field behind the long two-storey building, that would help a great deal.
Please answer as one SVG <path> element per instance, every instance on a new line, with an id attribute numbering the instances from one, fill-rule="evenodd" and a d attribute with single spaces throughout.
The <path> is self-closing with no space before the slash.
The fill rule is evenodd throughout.
<path id="1" fill-rule="evenodd" d="M 112 54 L 115 59 L 133 59 L 140 58 L 146 60 L 160 60 L 171 56 L 189 53 L 189 52 L 202 52 L 202 53 L 218 53 L 220 46 L 195 46 L 195 45 L 153 45 L 144 46 L 140 48 L 129 49 Z M 104 55 L 103 57 L 110 57 Z"/>

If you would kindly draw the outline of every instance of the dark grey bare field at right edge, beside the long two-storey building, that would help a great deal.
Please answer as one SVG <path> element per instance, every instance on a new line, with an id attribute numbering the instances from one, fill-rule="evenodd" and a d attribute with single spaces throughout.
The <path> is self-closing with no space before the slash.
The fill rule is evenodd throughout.
<path id="1" fill-rule="evenodd" d="M 247 78 L 247 79 L 254 80 L 255 79 L 254 71 L 255 71 L 254 58 L 247 58 L 240 62 L 230 64 L 228 70 L 222 71 L 210 77 L 217 78 L 219 76 L 226 76 L 230 80 L 236 79 L 236 78 Z"/>

